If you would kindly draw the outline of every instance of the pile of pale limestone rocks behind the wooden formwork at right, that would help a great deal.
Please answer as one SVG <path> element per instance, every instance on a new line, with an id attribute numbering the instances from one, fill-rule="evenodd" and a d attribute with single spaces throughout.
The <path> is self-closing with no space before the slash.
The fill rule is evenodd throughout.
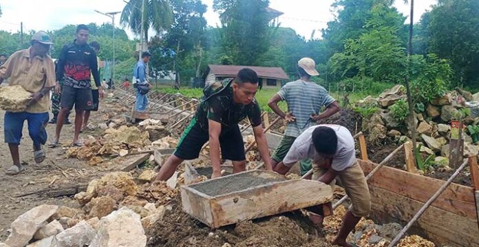
<path id="1" fill-rule="evenodd" d="M 371 106 L 379 108 L 376 113 L 363 121 L 363 132 L 368 133 L 368 143 L 381 143 L 390 139 L 401 143 L 410 141 L 411 124 L 414 123 L 418 144 L 422 144 L 421 152 L 436 156 L 435 162 L 447 167 L 449 161 L 446 157 L 449 157 L 451 139 L 450 123 L 456 120 L 461 108 L 467 108 L 466 102 L 479 101 L 479 95 L 456 89 L 429 102 L 422 113 L 415 113 L 413 119 L 408 116 L 405 121 L 397 121 L 392 115 L 391 106 L 401 99 L 406 100 L 405 87 L 396 85 L 378 98 L 368 96 L 357 102 L 356 106 L 359 108 Z M 468 116 L 464 123 L 476 125 L 479 123 L 479 117 Z M 477 155 L 479 145 L 473 143 L 467 131 L 463 132 L 462 139 L 465 140 L 464 155 Z"/>

